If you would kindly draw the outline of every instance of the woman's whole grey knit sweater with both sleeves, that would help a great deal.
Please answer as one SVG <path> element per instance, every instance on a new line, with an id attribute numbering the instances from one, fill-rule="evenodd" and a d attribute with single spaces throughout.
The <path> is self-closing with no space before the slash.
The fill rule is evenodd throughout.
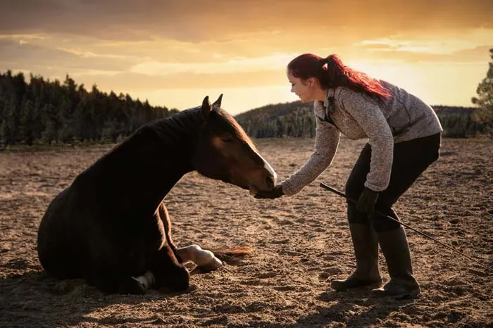
<path id="1" fill-rule="evenodd" d="M 394 144 L 443 131 L 430 106 L 404 89 L 380 82 L 393 94 L 384 103 L 347 87 L 328 89 L 324 102 L 314 102 L 315 149 L 306 163 L 282 182 L 285 194 L 297 194 L 329 167 L 341 133 L 353 140 L 368 138 L 372 152 L 365 186 L 383 191 L 389 184 Z"/>

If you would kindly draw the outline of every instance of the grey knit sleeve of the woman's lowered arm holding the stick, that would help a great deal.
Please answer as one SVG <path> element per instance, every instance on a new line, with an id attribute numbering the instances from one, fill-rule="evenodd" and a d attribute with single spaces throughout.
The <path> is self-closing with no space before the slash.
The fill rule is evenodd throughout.
<path id="1" fill-rule="evenodd" d="M 394 137 L 380 107 L 367 96 L 350 89 L 340 94 L 346 111 L 358 122 L 368 137 L 371 146 L 370 172 L 366 175 L 365 187 L 384 191 L 389 186 L 394 155 Z"/>

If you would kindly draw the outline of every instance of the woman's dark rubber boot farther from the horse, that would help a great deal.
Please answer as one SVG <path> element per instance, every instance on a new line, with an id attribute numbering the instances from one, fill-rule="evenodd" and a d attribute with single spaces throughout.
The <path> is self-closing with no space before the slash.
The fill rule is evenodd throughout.
<path id="1" fill-rule="evenodd" d="M 394 298 L 416 298 L 420 294 L 420 286 L 413 277 L 411 255 L 403 227 L 380 232 L 378 234 L 380 248 L 387 261 L 390 281 L 382 288 L 370 292 L 373 297 L 392 296 Z"/>

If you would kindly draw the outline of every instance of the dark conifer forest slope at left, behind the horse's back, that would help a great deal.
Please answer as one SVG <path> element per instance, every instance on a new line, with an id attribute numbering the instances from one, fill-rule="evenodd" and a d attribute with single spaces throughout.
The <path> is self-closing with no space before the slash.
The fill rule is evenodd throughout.
<path id="1" fill-rule="evenodd" d="M 176 109 L 151 106 L 128 94 L 61 83 L 22 72 L 0 74 L 0 144 L 115 143 L 144 123 L 166 118 Z"/>

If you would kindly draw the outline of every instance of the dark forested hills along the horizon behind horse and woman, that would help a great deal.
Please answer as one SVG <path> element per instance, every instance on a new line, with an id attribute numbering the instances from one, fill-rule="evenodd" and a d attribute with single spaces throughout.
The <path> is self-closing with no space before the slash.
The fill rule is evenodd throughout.
<path id="1" fill-rule="evenodd" d="M 492 134 L 492 121 L 475 120 L 477 108 L 434 106 L 445 137 Z M 87 90 L 68 75 L 64 82 L 22 72 L 0 74 L 0 148 L 10 145 L 104 144 L 129 136 L 146 122 L 177 109 L 151 106 L 128 94 Z M 253 138 L 315 137 L 313 108 L 294 101 L 236 115 Z"/>

